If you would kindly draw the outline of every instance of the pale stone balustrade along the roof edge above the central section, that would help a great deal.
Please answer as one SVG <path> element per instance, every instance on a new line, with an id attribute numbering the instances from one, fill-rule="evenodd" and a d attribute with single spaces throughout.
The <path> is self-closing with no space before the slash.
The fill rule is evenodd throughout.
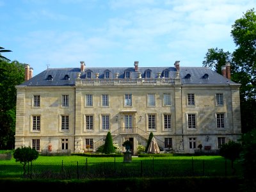
<path id="1" fill-rule="evenodd" d="M 166 86 L 167 84 L 180 84 L 180 79 L 76 79 L 76 86 Z"/>

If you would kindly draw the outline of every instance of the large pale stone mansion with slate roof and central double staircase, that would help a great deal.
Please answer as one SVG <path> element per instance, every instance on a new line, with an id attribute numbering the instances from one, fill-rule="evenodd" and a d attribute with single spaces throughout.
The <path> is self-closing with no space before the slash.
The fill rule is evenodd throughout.
<path id="1" fill-rule="evenodd" d="M 127 78 L 125 70 L 87 69 L 81 61 L 81 68 L 47 69 L 16 86 L 15 148 L 93 151 L 110 131 L 122 151 L 122 143 L 132 141 L 136 155 L 137 146 L 146 146 L 153 132 L 159 147 L 193 153 L 199 144 L 216 150 L 240 138 L 240 84 L 209 68 L 180 67 L 179 62 L 166 70 L 139 68 L 136 61 Z"/>

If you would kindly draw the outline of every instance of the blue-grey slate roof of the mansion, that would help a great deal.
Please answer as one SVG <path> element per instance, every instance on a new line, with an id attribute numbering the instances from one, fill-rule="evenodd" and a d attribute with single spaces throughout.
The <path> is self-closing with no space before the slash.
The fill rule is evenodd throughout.
<path id="1" fill-rule="evenodd" d="M 81 72 L 80 68 L 48 68 L 19 86 L 74 86 L 77 72 L 81 72 L 81 79 L 86 78 L 88 71 L 92 72 L 92 79 L 95 79 L 95 73 L 99 73 L 99 79 L 104 79 L 106 70 L 110 72 L 109 79 L 115 79 L 115 73 L 119 73 L 119 79 L 124 79 L 125 71 L 130 72 L 131 79 L 137 79 L 138 72 L 145 78 L 146 70 L 151 71 L 152 78 L 157 78 L 158 72 L 162 72 L 162 77 L 164 70 L 169 70 L 169 78 L 175 78 L 177 72 L 175 67 L 139 67 L 138 72 L 135 72 L 134 67 L 86 67 L 84 72 Z M 47 80 L 49 77 L 52 77 L 52 81 Z M 181 84 L 237 84 L 207 67 L 180 67 L 179 77 Z"/>

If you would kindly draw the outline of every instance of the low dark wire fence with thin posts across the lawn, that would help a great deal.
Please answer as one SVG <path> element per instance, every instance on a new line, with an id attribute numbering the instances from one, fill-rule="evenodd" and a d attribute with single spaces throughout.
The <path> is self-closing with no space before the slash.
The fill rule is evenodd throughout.
<path id="1" fill-rule="evenodd" d="M 79 162 L 34 163 L 29 164 L 24 175 L 22 165 L 1 165 L 0 178 L 20 177 L 31 179 L 93 179 L 93 178 L 125 178 L 125 177 L 189 177 L 189 176 L 228 176 L 241 175 L 239 163 L 230 161 L 205 161 L 198 159 L 145 159 L 124 163 L 122 158 L 107 157 L 108 161 L 95 163 L 90 158 Z M 110 161 L 109 161 L 109 158 Z"/>

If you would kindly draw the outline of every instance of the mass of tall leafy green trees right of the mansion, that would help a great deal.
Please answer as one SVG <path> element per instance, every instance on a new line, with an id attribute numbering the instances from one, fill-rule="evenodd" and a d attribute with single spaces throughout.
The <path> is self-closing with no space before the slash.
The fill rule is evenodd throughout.
<path id="1" fill-rule="evenodd" d="M 254 8 L 244 13 L 232 25 L 231 36 L 237 49 L 223 52 L 223 49 L 208 49 L 203 65 L 221 74 L 225 61 L 231 64 L 231 80 L 240 83 L 242 132 L 256 127 L 256 15 Z M 248 113 L 250 111 L 250 113 Z"/>

